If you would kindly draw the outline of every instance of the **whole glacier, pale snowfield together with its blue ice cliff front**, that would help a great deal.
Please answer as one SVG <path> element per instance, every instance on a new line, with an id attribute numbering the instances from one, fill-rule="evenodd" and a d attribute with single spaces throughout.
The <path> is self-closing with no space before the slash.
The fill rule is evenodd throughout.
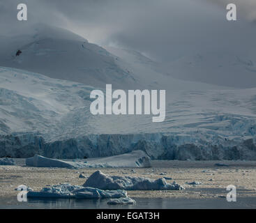
<path id="1" fill-rule="evenodd" d="M 93 116 L 92 86 L 0 68 L 0 157 L 255 160 L 256 89 L 173 90 L 165 122 Z"/>

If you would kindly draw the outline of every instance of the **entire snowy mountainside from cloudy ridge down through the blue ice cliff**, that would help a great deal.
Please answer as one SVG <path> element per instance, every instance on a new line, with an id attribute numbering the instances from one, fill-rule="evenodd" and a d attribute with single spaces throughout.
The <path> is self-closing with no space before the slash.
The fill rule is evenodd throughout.
<path id="1" fill-rule="evenodd" d="M 1 36 L 0 45 L 0 157 L 96 157 L 140 149 L 153 158 L 256 159 L 256 88 L 176 79 L 138 52 L 104 49 L 48 26 Z M 229 75 L 254 72 L 252 61 L 228 59 L 197 55 L 191 64 L 173 63 L 171 71 L 218 75 L 210 61 L 221 61 Z M 153 123 L 151 115 L 93 116 L 89 95 L 105 84 L 165 89 L 165 121 Z"/>

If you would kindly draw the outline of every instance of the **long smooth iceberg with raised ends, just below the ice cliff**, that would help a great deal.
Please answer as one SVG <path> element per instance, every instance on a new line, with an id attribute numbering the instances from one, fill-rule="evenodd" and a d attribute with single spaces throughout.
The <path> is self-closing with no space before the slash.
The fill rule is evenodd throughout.
<path id="1" fill-rule="evenodd" d="M 100 167 L 150 167 L 150 158 L 144 151 L 133 151 L 112 157 L 91 159 L 86 162 L 74 162 L 51 159 L 42 155 L 34 155 L 26 159 L 31 167 L 64 167 L 64 168 L 100 168 Z"/>

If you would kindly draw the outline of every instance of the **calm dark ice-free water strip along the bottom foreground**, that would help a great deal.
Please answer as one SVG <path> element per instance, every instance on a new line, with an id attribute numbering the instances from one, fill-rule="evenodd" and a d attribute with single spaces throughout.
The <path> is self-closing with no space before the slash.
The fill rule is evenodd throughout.
<path id="1" fill-rule="evenodd" d="M 256 198 L 239 198 L 236 202 L 227 202 L 225 198 L 216 199 L 171 199 L 171 198 L 135 198 L 135 206 L 110 206 L 108 199 L 28 199 L 27 202 L 18 202 L 16 197 L 1 200 L 0 208 L 256 208 Z"/>

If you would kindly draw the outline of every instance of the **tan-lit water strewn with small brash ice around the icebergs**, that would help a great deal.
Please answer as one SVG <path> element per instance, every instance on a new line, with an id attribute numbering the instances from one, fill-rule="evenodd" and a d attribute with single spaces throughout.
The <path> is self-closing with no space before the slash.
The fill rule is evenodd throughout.
<path id="1" fill-rule="evenodd" d="M 0 202 L 17 196 L 15 187 L 27 185 L 41 190 L 45 185 L 70 183 L 82 185 L 98 169 L 66 169 L 26 167 L 23 159 L 16 159 L 17 166 L 0 166 Z M 216 165 L 220 164 L 220 165 Z M 224 165 L 223 165 L 224 164 Z M 249 161 L 176 161 L 153 160 L 150 168 L 100 168 L 112 176 L 141 176 L 167 178 L 186 187 L 180 191 L 128 191 L 133 198 L 190 198 L 214 199 L 225 197 L 227 185 L 235 185 L 237 196 L 256 198 L 256 162 Z M 80 174 L 86 178 L 79 178 Z M 170 180 L 172 178 L 172 180 Z M 188 185 L 198 181 L 202 184 Z"/>

